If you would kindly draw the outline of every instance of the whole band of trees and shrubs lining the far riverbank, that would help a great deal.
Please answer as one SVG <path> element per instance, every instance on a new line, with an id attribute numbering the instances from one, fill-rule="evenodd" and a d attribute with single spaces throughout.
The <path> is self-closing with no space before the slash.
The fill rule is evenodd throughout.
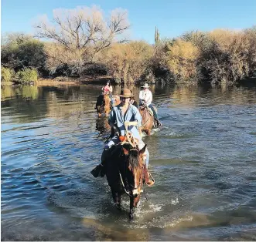
<path id="1" fill-rule="evenodd" d="M 256 26 L 232 31 L 191 31 L 155 45 L 128 41 L 127 12 L 109 18 L 99 8 L 53 11 L 36 35 L 15 33 L 2 41 L 2 82 L 36 82 L 37 76 L 83 79 L 110 76 L 117 83 L 176 82 L 233 85 L 256 73 Z"/>

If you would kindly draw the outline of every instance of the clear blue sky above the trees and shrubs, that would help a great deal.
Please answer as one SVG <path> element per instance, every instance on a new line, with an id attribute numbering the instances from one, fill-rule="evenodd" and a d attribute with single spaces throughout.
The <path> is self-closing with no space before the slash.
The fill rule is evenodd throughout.
<path id="1" fill-rule="evenodd" d="M 154 42 L 155 25 L 160 38 L 176 37 L 189 30 L 244 29 L 256 25 L 256 0 L 2 0 L 1 32 L 32 33 L 38 15 L 52 16 L 55 8 L 99 5 L 109 13 L 128 10 L 131 39 Z"/>

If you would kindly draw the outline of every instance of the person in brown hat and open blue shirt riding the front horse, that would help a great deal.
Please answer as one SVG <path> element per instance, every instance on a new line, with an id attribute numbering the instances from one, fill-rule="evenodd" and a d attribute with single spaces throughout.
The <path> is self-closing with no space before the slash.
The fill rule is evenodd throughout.
<path id="1" fill-rule="evenodd" d="M 131 105 L 130 99 L 132 97 L 131 91 L 129 89 L 123 89 L 121 91 L 120 99 L 121 103 L 118 106 L 114 106 L 114 108 L 111 110 L 111 115 L 108 119 L 108 123 L 111 127 L 114 129 L 118 129 L 120 132 L 119 135 L 125 136 L 125 122 L 130 121 L 137 121 L 138 126 L 142 126 L 142 116 L 138 112 L 138 109 Z M 142 148 L 145 146 L 145 143 L 142 141 L 142 138 L 138 132 L 137 126 L 128 126 L 128 131 L 130 131 L 133 136 L 138 139 L 138 148 L 142 150 Z M 108 144 L 104 147 L 104 152 L 101 156 L 101 169 L 104 167 L 104 164 L 106 163 L 106 156 L 108 156 L 108 150 L 113 146 L 114 144 L 118 143 L 119 137 L 115 134 L 114 137 L 108 142 Z M 149 153 L 148 149 L 145 150 L 146 153 L 146 159 L 145 159 L 145 165 L 146 168 L 148 168 L 148 160 L 149 160 Z M 146 183 L 151 186 L 154 184 L 152 180 L 148 179 L 149 173 L 146 169 Z M 97 176 L 97 175 L 96 175 Z"/>

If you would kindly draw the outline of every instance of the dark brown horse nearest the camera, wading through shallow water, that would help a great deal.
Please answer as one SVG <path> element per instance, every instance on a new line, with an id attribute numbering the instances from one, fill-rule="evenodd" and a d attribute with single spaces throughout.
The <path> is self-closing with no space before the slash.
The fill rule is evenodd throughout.
<path id="1" fill-rule="evenodd" d="M 142 150 L 138 150 L 137 146 L 122 142 L 108 150 L 108 162 L 105 168 L 108 185 L 111 187 L 114 203 L 119 208 L 121 207 L 121 195 L 126 193 L 130 197 L 130 219 L 134 217 L 135 207 L 143 191 L 145 148 L 146 145 Z"/>

